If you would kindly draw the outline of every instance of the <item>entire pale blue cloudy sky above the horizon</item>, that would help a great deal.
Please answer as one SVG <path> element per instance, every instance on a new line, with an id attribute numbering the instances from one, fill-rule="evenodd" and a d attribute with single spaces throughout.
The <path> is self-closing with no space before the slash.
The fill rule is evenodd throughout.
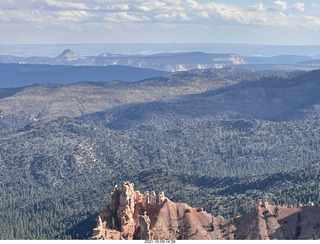
<path id="1" fill-rule="evenodd" d="M 0 0 L 0 44 L 320 45 L 318 0 Z"/>

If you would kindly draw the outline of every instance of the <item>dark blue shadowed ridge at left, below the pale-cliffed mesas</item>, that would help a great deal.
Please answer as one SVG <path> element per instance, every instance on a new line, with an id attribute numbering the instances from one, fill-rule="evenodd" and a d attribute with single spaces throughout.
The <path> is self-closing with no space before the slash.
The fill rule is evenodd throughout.
<path id="1" fill-rule="evenodd" d="M 0 58 L 1 59 L 1 58 Z M 163 76 L 168 72 L 134 68 L 123 65 L 105 67 L 68 65 L 45 65 L 25 63 L 0 63 L 1 87 L 21 87 L 32 84 L 70 84 L 78 81 L 139 81 L 151 77 Z"/>

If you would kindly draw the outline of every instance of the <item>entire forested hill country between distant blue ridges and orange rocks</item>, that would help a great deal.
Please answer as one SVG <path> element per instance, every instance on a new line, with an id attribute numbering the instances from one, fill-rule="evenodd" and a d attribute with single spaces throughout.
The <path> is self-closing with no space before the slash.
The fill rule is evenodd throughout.
<path id="1" fill-rule="evenodd" d="M 319 74 L 0 90 L 0 239 L 88 238 L 124 180 L 225 217 L 263 198 L 319 203 Z"/>

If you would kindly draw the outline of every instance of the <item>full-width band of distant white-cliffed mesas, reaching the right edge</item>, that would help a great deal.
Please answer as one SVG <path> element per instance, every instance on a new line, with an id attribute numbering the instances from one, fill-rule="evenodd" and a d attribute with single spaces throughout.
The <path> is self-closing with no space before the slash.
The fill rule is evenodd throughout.
<path id="1" fill-rule="evenodd" d="M 302 55 L 241 57 L 236 53 L 177 52 L 158 53 L 152 55 L 123 55 L 103 53 L 97 56 L 79 56 L 70 49 L 64 50 L 56 57 L 18 57 L 12 55 L 0 55 L 0 63 L 70 66 L 122 65 L 135 68 L 161 70 L 166 72 L 187 71 L 192 69 L 223 68 L 228 66 L 239 66 L 252 71 L 311 70 L 320 67 L 320 60 L 313 59 L 311 56 Z M 86 73 L 86 71 L 84 72 Z M 108 79 L 108 77 L 106 79 Z M 116 77 L 115 79 L 123 79 L 123 76 L 119 76 L 119 78 Z M 97 81 L 94 78 L 88 80 Z M 128 79 L 124 80 L 129 81 Z"/>

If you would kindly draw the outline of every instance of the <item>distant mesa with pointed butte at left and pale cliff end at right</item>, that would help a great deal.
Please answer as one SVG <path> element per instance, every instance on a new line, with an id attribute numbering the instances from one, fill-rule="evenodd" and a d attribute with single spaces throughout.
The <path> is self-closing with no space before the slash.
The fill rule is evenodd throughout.
<path id="1" fill-rule="evenodd" d="M 67 64 L 81 66 L 126 65 L 137 68 L 149 68 L 175 72 L 199 68 L 222 68 L 224 66 L 244 64 L 245 62 L 237 54 L 184 52 L 160 53 L 155 55 L 117 55 L 104 53 L 98 56 L 81 57 L 70 49 L 66 49 L 59 56 L 54 58 L 2 55 L 0 56 L 0 63 L 50 65 Z"/>

